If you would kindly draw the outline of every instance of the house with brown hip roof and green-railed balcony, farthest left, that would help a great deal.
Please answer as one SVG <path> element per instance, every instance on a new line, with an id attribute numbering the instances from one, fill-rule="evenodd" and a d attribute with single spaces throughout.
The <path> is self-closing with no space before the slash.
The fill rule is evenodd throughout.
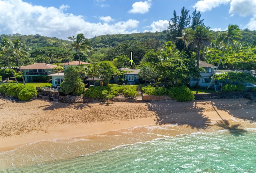
<path id="1" fill-rule="evenodd" d="M 51 72 L 57 65 L 35 63 L 32 65 L 21 66 L 25 82 L 32 82 L 34 76 L 47 76 L 47 72 Z"/>

